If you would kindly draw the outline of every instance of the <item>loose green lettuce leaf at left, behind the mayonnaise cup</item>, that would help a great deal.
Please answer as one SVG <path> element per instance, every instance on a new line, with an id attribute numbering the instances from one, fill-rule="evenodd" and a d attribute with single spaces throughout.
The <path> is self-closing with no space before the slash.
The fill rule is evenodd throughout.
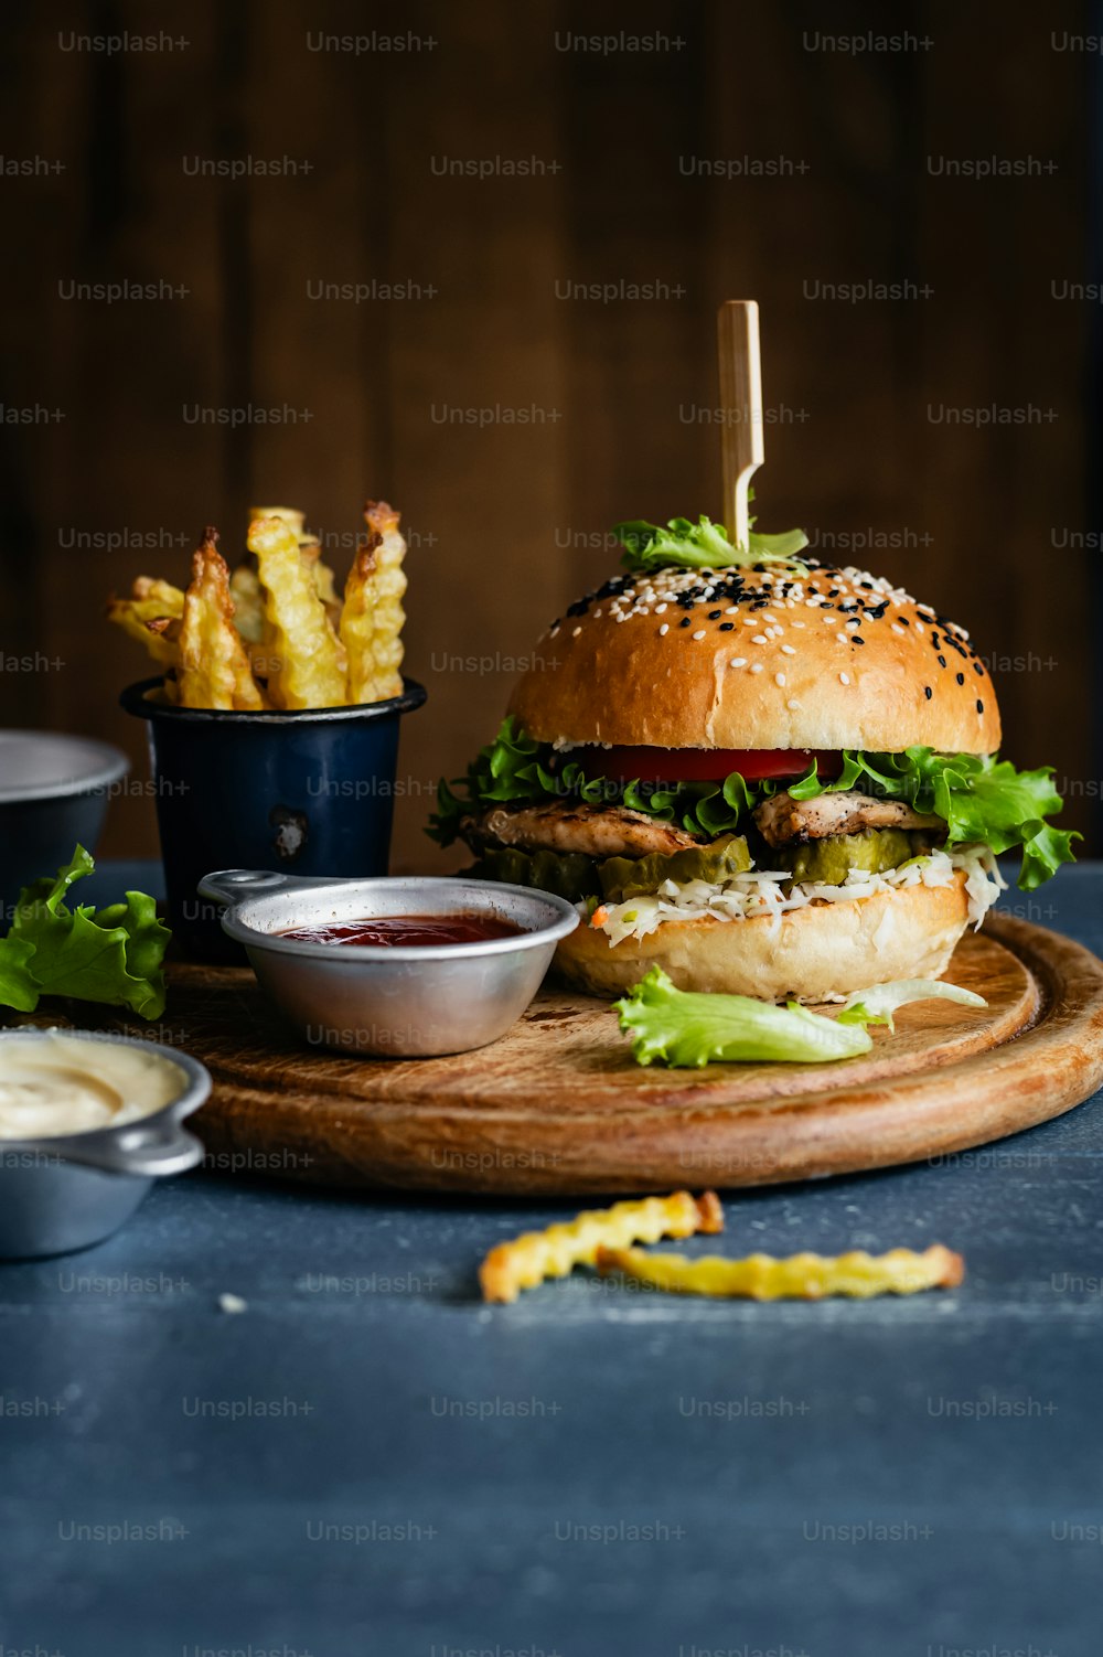
<path id="1" fill-rule="evenodd" d="M 51 880 L 35 880 L 20 893 L 7 938 L 0 938 L 0 1006 L 33 1012 L 38 998 L 71 996 L 131 1007 L 144 1019 L 164 1012 L 164 951 L 172 933 L 157 920 L 144 891 L 93 910 L 68 908 L 75 880 L 91 875 L 83 845 Z"/>

